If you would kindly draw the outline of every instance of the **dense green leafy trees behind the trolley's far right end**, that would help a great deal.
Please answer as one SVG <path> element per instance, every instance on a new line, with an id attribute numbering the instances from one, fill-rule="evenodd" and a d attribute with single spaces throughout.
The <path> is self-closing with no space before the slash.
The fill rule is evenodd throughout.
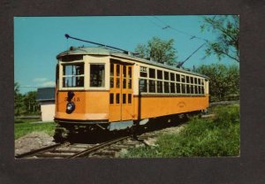
<path id="1" fill-rule="evenodd" d="M 197 73 L 209 77 L 209 94 L 211 100 L 224 100 L 227 96 L 239 96 L 239 66 L 220 64 L 201 65 Z"/>

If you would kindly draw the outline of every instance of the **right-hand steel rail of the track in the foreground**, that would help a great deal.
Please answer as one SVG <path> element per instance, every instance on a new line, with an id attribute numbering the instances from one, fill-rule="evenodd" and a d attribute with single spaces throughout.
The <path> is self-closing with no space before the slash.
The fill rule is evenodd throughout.
<path id="1" fill-rule="evenodd" d="M 97 145 L 97 146 L 94 146 L 94 147 L 92 147 L 92 148 L 89 148 L 89 149 L 86 149 L 86 150 L 80 151 L 79 153 L 74 154 L 74 155 L 72 155 L 72 156 L 70 156 L 70 157 L 67 157 L 67 158 L 72 158 L 72 157 L 85 157 L 85 156 L 87 156 L 89 153 L 91 153 L 91 152 L 93 152 L 93 151 L 95 151 L 95 150 L 97 150 L 97 149 L 102 149 L 103 147 L 109 146 L 109 145 L 111 145 L 111 144 L 113 144 L 113 143 L 115 143 L 115 142 L 123 141 L 123 140 L 125 140 L 125 139 L 130 138 L 130 137 L 131 137 L 131 136 L 125 136 L 125 137 L 122 137 L 122 138 L 118 138 L 118 139 L 116 139 L 116 140 L 112 140 L 112 141 L 110 141 L 110 142 L 103 142 L 103 143 L 100 144 L 100 145 Z"/>

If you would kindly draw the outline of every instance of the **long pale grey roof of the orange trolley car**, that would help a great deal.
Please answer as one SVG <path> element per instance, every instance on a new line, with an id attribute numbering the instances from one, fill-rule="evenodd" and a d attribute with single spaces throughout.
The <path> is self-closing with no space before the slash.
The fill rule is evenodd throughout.
<path id="1" fill-rule="evenodd" d="M 193 73 L 191 71 L 177 68 L 176 66 L 163 65 L 163 64 L 160 64 L 154 61 L 150 61 L 145 58 L 135 57 L 133 56 L 133 54 L 130 54 L 130 52 L 125 53 L 122 51 L 110 50 L 110 49 L 107 49 L 106 47 L 71 47 L 70 50 L 65 50 L 64 52 L 61 52 L 60 54 L 58 54 L 57 58 L 61 58 L 67 55 L 105 55 L 105 56 L 116 56 L 116 57 L 121 57 L 121 58 L 130 58 L 130 59 L 133 59 L 134 61 L 137 61 L 143 64 L 155 65 L 155 66 L 170 69 L 173 71 L 178 71 L 181 73 L 189 73 L 189 74 L 201 76 L 203 78 L 208 79 L 208 76 L 203 75 L 201 73 Z"/>

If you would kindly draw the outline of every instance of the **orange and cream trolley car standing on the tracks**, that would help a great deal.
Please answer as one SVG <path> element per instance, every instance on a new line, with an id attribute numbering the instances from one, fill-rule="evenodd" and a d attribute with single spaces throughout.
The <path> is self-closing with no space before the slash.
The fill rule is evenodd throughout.
<path id="1" fill-rule="evenodd" d="M 57 55 L 55 140 L 208 108 L 208 77 L 104 47 Z"/>

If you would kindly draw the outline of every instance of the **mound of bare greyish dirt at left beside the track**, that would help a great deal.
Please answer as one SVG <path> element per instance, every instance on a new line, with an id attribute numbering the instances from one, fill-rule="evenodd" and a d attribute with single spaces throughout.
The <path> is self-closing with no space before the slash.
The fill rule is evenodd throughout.
<path id="1" fill-rule="evenodd" d="M 55 144 L 53 137 L 43 132 L 33 132 L 15 141 L 15 155 L 26 153 L 33 149 L 40 149 Z"/>

